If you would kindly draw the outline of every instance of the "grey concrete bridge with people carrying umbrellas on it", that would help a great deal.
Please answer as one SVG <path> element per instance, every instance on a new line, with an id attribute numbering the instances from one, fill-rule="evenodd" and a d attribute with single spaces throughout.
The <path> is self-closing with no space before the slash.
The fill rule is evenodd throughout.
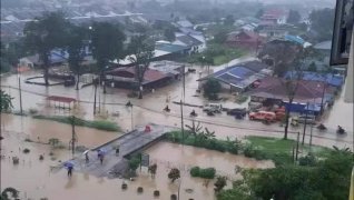
<path id="1" fill-rule="evenodd" d="M 80 154 L 72 159 L 73 170 L 94 174 L 96 177 L 120 177 L 128 168 L 127 157 L 134 152 L 148 148 L 157 141 L 161 140 L 164 136 L 176 128 L 149 124 L 150 132 L 145 132 L 145 127 L 137 128 L 131 132 L 118 137 L 102 146 L 99 146 L 88 152 L 89 162 L 86 163 L 85 154 Z M 119 147 L 119 156 L 116 154 L 116 148 Z M 105 159 L 100 163 L 97 150 L 104 149 Z"/>

